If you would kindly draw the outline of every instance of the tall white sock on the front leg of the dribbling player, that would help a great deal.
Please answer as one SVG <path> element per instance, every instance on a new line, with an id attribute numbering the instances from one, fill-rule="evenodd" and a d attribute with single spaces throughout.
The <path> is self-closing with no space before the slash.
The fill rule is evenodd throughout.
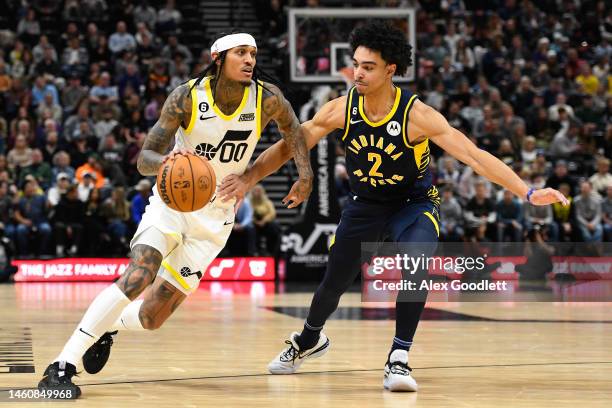
<path id="1" fill-rule="evenodd" d="M 100 292 L 54 361 L 67 361 L 79 367 L 83 354 L 108 331 L 129 303 L 130 299 L 115 284 Z"/>

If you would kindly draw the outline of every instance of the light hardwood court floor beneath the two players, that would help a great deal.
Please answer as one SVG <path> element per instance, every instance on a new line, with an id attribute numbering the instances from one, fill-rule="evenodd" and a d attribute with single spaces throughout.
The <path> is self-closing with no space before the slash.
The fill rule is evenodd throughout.
<path id="1" fill-rule="evenodd" d="M 0 389 L 35 386 L 105 286 L 0 285 L 0 367 L 24 356 L 11 354 L 11 342 L 31 338 L 36 370 L 4 369 Z M 420 390 L 389 393 L 382 388 L 382 368 L 394 323 L 357 320 L 384 318 L 386 309 L 361 307 L 385 305 L 362 305 L 359 294 L 345 295 L 339 318 L 325 330 L 330 352 L 306 363 L 299 375 L 272 376 L 266 365 L 301 327 L 303 319 L 294 316 L 305 313 L 311 294 L 266 293 L 271 287 L 263 284 L 243 294 L 228 288 L 244 290 L 200 288 L 160 330 L 120 333 L 107 367 L 76 379 L 83 390 L 77 402 L 14 406 L 612 406 L 611 304 L 428 304 L 410 361 Z M 20 361 L 27 360 L 26 353 Z M 2 394 L 0 401 L 7 401 Z"/>

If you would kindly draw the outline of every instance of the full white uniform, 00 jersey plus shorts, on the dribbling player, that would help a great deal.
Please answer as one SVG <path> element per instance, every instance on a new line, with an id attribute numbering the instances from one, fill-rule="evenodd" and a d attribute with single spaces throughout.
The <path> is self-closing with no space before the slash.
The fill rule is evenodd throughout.
<path id="1" fill-rule="evenodd" d="M 218 187 L 225 176 L 244 173 L 251 160 L 261 132 L 262 87 L 245 88 L 240 106 L 231 115 L 213 104 L 210 78 L 191 90 L 191 99 L 189 126 L 176 132 L 174 149 L 190 148 L 207 158 Z M 183 213 L 166 206 L 154 187 L 130 247 L 156 248 L 163 256 L 160 276 L 191 293 L 232 232 L 234 201 L 224 203 L 213 197 L 203 208 Z"/>

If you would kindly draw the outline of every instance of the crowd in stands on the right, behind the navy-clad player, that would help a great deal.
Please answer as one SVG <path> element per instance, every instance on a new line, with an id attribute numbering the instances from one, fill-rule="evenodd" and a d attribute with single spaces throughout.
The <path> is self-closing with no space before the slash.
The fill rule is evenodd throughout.
<path id="1" fill-rule="evenodd" d="M 282 4 L 266 3 L 271 10 Z M 289 4 L 339 5 L 334 0 Z M 571 201 L 570 207 L 525 203 L 432 145 L 430 166 L 443 195 L 443 240 L 612 241 L 612 9 L 606 2 L 363 0 L 355 5 L 414 7 L 417 80 L 404 86 L 528 185 L 559 189 Z M 268 15 L 271 35 L 283 44 L 284 27 L 276 30 L 283 20 Z M 325 20 L 332 26 L 322 21 L 298 21 L 301 75 L 329 75 L 333 56 L 321 44 L 345 42 L 351 28 L 343 19 Z M 406 20 L 393 23 L 404 28 Z M 313 92 L 301 119 L 348 86 Z M 336 184 L 346 197 L 342 157 Z"/>

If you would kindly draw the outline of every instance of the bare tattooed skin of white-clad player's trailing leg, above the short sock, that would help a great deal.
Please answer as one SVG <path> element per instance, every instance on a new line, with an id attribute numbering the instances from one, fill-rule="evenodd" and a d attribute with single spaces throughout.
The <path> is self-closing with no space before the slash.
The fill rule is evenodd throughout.
<path id="1" fill-rule="evenodd" d="M 183 292 L 162 277 L 157 277 L 145 293 L 138 316 L 142 327 L 159 329 L 176 308 L 187 298 Z"/>

